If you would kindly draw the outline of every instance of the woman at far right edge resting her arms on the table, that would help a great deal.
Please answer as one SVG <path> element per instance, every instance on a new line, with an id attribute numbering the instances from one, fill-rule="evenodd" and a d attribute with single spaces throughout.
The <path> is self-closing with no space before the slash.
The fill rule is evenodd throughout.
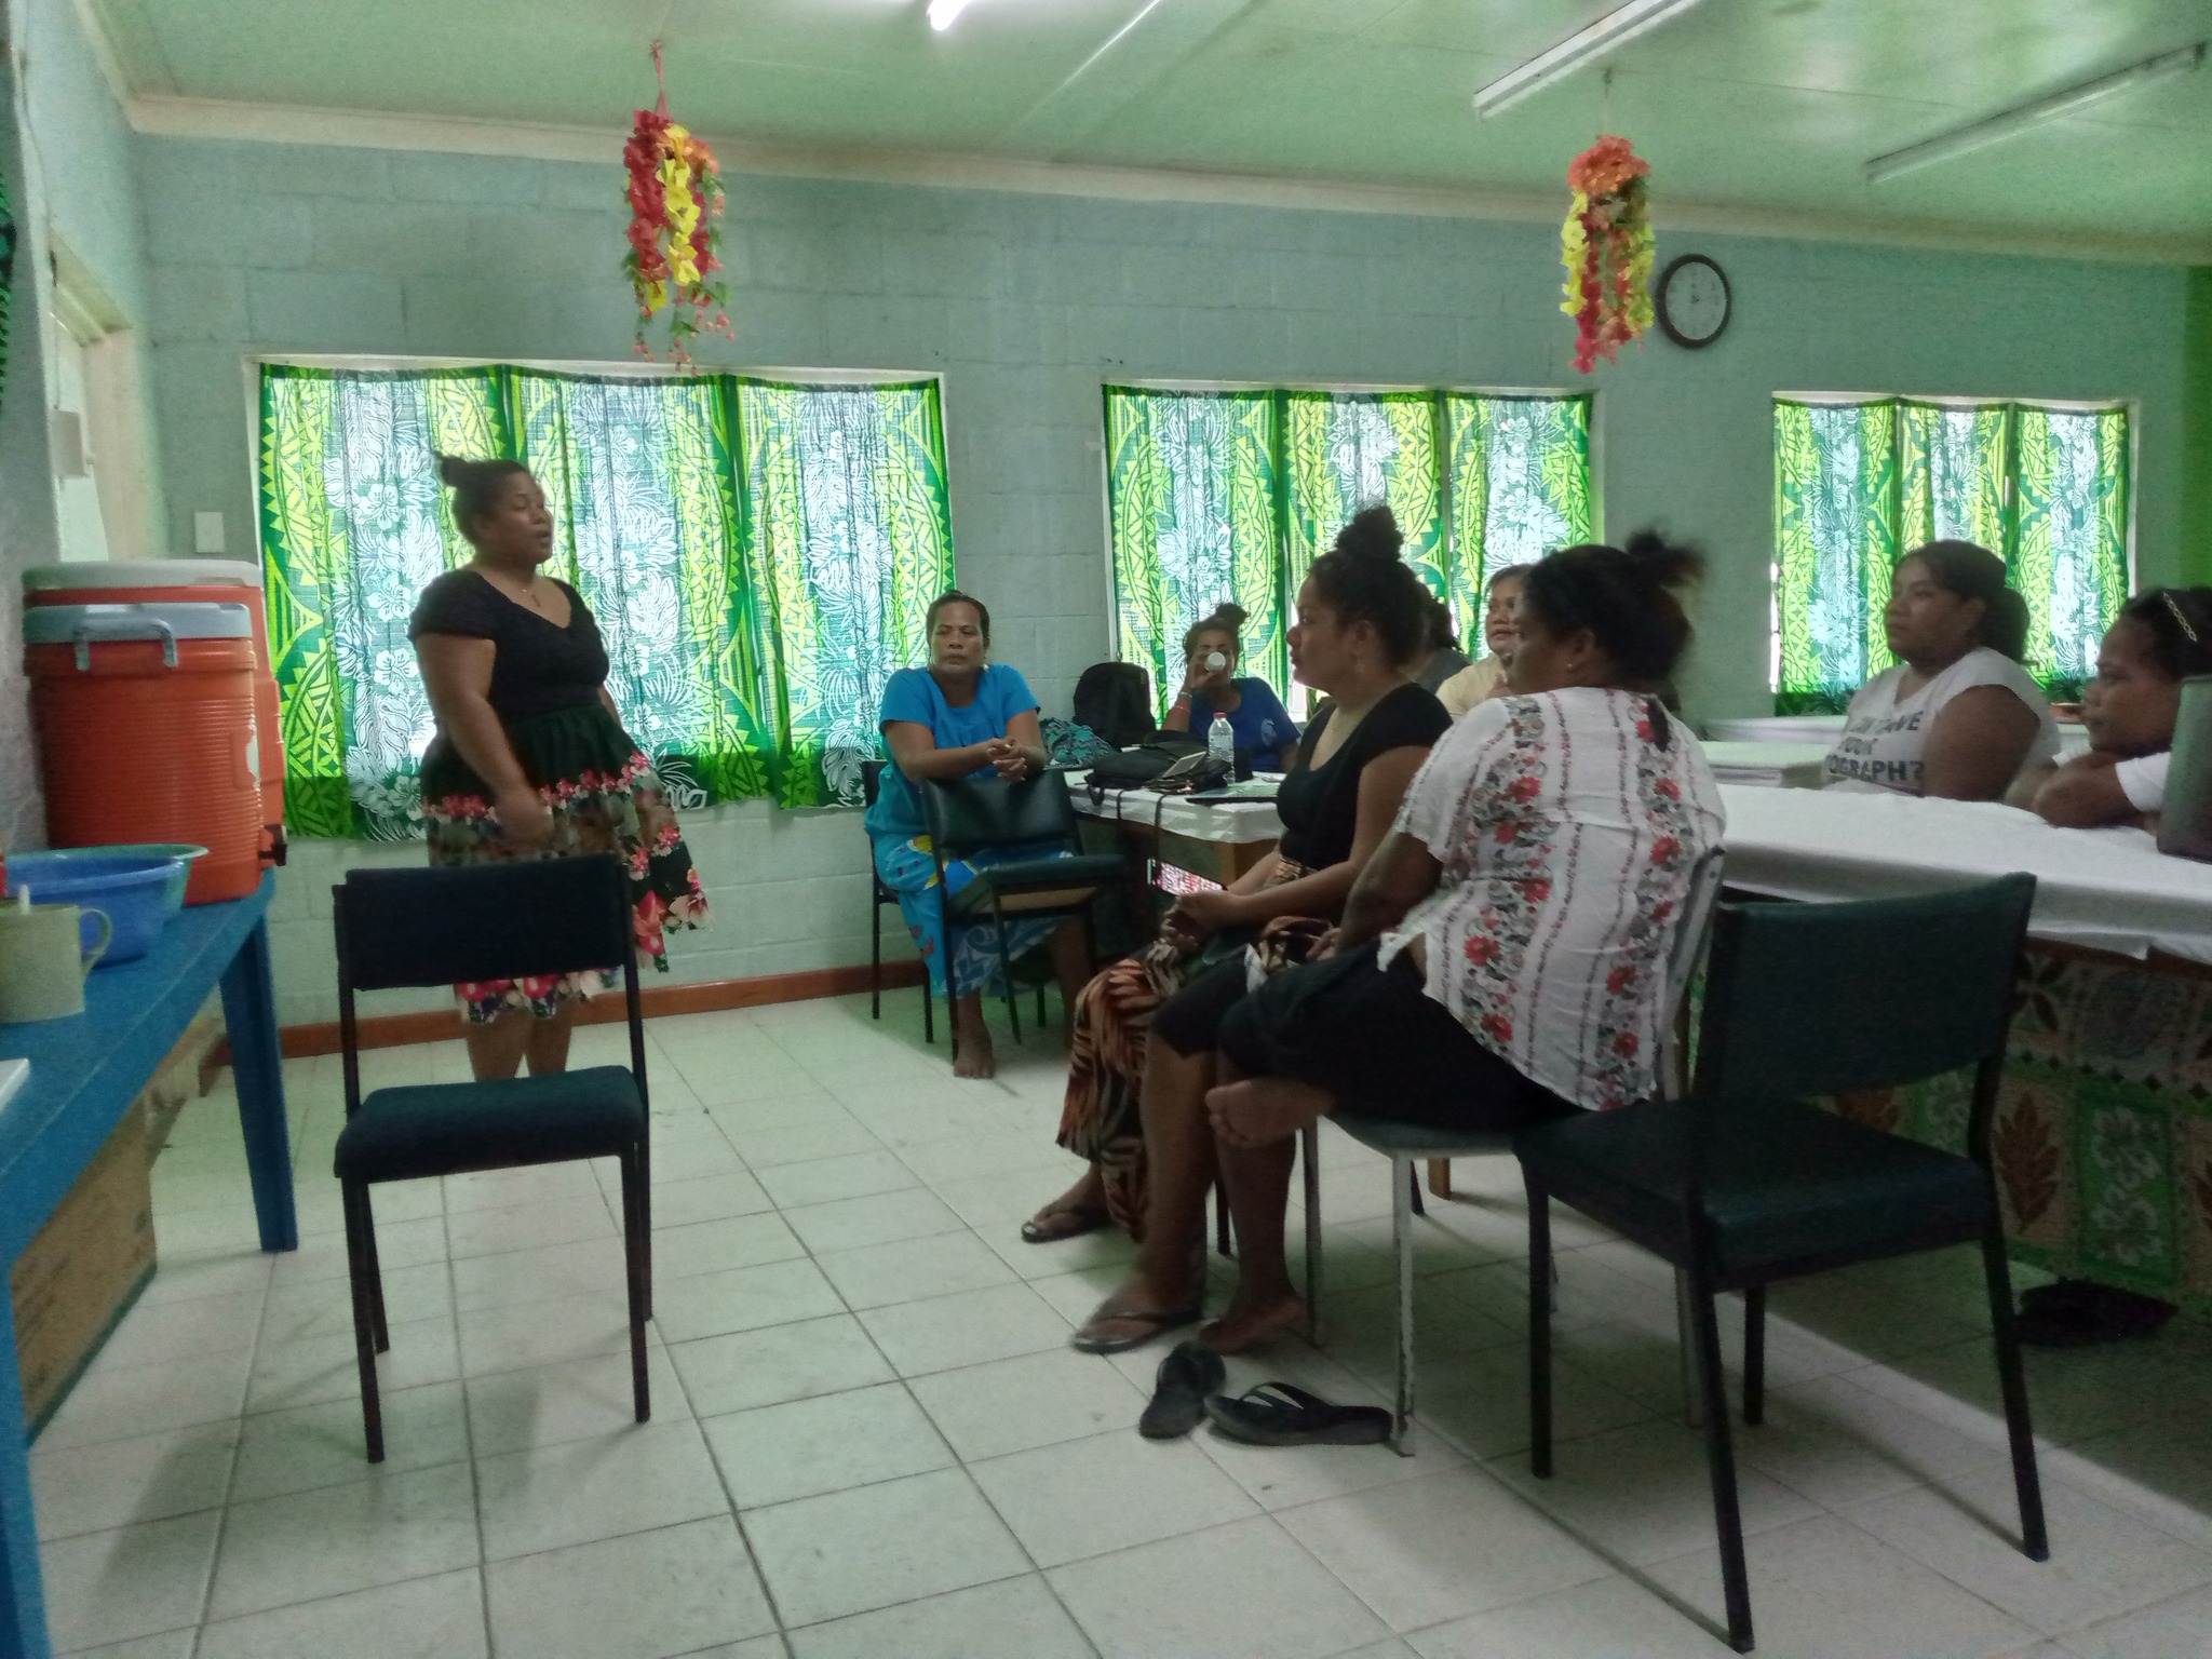
<path id="1" fill-rule="evenodd" d="M 2154 830 L 2190 675 L 2212 675 L 2212 588 L 2137 593 L 2104 630 L 2081 690 L 2088 754 L 2026 768 L 2004 799 L 2062 830 Z"/>

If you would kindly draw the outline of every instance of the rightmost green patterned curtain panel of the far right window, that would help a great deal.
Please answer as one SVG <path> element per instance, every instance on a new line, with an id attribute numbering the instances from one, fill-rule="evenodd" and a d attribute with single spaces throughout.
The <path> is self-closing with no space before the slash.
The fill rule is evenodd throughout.
<path id="1" fill-rule="evenodd" d="M 2028 602 L 2028 672 L 2073 701 L 2128 597 L 2128 411 L 2022 405 L 2015 420 L 2006 562 Z"/>

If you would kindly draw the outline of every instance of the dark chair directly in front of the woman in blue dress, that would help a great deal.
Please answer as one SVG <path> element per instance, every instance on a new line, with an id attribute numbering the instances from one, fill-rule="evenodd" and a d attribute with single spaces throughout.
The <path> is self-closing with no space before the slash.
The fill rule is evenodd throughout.
<path id="1" fill-rule="evenodd" d="M 991 927 L 1004 960 L 1006 918 L 1073 916 L 1091 925 L 1091 905 L 1121 880 L 1121 858 L 1084 852 L 1075 801 L 1060 772 L 1020 783 L 1004 779 L 951 779 L 922 783 L 922 823 L 938 865 L 938 905 L 945 918 L 945 949 L 956 929 Z M 1020 858 L 984 865 L 960 891 L 945 880 L 945 865 L 973 854 L 1020 852 Z M 1009 964 L 1011 967 L 1011 964 Z M 927 987 L 922 995 L 929 995 Z M 1006 975 L 1006 1018 L 1022 1037 L 1022 1006 Z M 958 1037 L 956 1037 L 958 1046 Z"/>

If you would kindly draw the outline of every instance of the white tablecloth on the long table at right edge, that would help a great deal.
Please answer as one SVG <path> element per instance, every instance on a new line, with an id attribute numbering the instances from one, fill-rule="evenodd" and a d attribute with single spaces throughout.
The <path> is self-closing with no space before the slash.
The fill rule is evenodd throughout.
<path id="1" fill-rule="evenodd" d="M 2141 958 L 2212 962 L 2212 865 L 2141 830 L 2053 830 L 1986 801 L 1723 785 L 1728 885 L 1778 898 L 1889 898 L 2026 869 L 2028 931 Z"/>

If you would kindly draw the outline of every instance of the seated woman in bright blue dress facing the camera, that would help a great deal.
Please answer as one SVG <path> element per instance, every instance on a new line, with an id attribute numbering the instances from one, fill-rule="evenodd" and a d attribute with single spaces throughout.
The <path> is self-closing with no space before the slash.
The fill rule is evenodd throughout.
<path id="1" fill-rule="evenodd" d="M 891 765 L 883 768 L 876 805 L 867 810 L 876 874 L 898 894 L 898 911 L 929 969 L 929 989 L 951 998 L 953 1073 L 960 1077 L 991 1077 L 998 1068 L 982 998 L 1004 993 L 1006 962 L 1051 945 L 1071 1006 L 1091 975 L 1082 929 L 1060 916 L 1009 920 L 1004 958 L 995 927 L 956 927 L 953 938 L 945 938 L 938 865 L 914 785 L 967 776 L 1018 783 L 1046 765 L 1037 699 L 1020 670 L 987 661 L 989 653 L 991 613 L 960 591 L 938 595 L 929 606 L 929 668 L 900 668 L 883 688 L 883 741 Z M 1035 852 L 1011 856 L 1035 858 Z M 960 891 L 991 863 L 989 852 L 956 858 L 945 880 Z"/>

